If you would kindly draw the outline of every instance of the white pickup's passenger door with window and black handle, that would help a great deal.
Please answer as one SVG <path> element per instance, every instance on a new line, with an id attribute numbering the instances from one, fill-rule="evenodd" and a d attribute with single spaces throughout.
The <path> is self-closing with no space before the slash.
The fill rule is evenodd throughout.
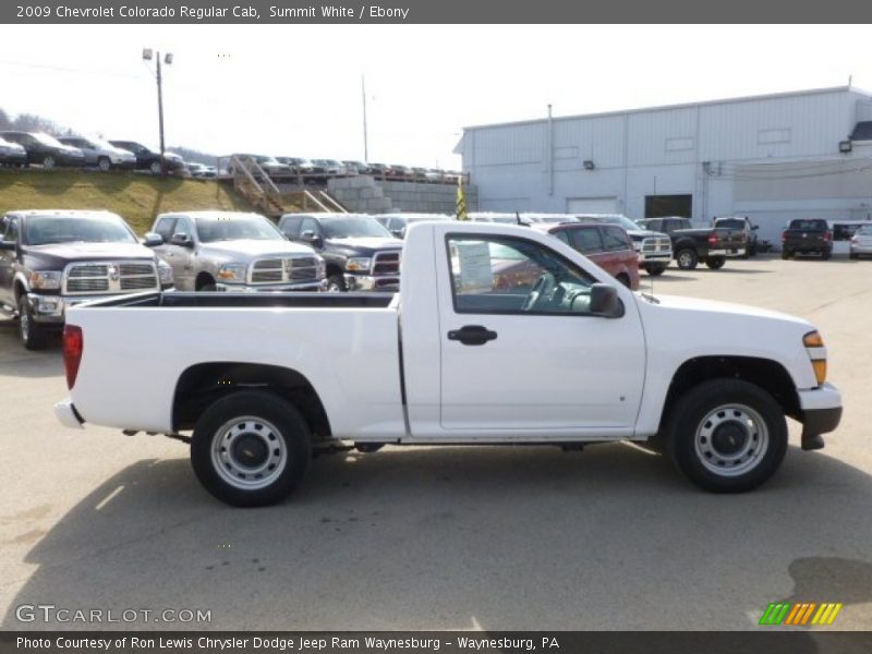
<path id="1" fill-rule="evenodd" d="M 618 290 L 621 317 L 596 316 L 591 286 L 614 280 L 595 279 L 544 243 L 447 231 L 443 247 L 443 429 L 532 439 L 632 434 L 645 347 L 629 291 Z"/>

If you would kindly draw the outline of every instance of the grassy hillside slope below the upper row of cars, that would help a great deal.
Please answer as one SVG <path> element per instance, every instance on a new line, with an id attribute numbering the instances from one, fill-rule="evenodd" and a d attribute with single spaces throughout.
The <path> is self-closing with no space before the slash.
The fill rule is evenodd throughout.
<path id="1" fill-rule="evenodd" d="M 138 234 L 162 211 L 252 206 L 215 181 L 153 178 L 134 172 L 0 169 L 0 214 L 10 209 L 106 209 Z"/>

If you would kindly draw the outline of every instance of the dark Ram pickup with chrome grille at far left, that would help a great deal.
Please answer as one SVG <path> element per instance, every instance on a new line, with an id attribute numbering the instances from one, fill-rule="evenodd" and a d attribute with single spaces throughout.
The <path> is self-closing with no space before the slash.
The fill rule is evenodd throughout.
<path id="1" fill-rule="evenodd" d="M 172 269 L 116 214 L 29 210 L 0 218 L 0 312 L 17 316 L 28 350 L 45 347 L 68 306 L 171 286 Z"/>

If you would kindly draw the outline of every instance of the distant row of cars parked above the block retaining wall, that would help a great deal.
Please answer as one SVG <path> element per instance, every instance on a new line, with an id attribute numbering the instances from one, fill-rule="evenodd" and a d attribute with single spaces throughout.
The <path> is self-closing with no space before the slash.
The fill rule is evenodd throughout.
<path id="1" fill-rule="evenodd" d="M 339 159 L 306 159 L 303 157 L 272 157 L 269 155 L 237 154 L 233 158 L 256 161 L 269 177 L 303 175 L 306 181 L 318 181 L 330 177 L 372 174 L 383 179 L 401 181 L 457 183 L 460 172 L 438 168 L 420 168 L 400 164 L 365 164 Z M 228 165 L 233 172 L 233 164 Z"/>

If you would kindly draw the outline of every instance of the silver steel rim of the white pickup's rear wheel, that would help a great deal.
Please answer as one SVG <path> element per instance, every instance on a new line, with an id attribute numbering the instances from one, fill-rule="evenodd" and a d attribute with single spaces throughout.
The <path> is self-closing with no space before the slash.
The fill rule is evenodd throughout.
<path id="1" fill-rule="evenodd" d="M 227 484 L 257 491 L 275 483 L 284 471 L 288 447 L 275 425 L 244 415 L 226 422 L 215 432 L 211 463 Z"/>

